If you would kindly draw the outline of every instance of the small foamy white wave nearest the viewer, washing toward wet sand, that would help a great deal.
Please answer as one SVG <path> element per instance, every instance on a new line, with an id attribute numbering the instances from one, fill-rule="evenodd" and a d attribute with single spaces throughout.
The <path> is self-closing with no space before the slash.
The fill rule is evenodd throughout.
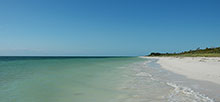
<path id="1" fill-rule="evenodd" d="M 169 102 L 181 102 L 191 101 L 191 102 L 214 102 L 213 99 L 199 93 L 195 92 L 191 88 L 179 86 L 174 83 L 167 83 L 167 85 L 174 88 L 169 96 Z"/>

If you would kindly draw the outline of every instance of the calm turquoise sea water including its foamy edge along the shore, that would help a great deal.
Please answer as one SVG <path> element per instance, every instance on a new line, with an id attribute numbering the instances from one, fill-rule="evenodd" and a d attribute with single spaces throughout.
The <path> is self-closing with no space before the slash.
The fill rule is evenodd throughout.
<path id="1" fill-rule="evenodd" d="M 161 71 L 139 57 L 1 57 L 0 102 L 212 102 Z"/>

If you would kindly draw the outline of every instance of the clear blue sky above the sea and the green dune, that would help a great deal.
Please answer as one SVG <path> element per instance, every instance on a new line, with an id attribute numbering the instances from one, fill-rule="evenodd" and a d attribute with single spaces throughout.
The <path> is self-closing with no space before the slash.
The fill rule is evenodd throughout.
<path id="1" fill-rule="evenodd" d="M 220 45 L 220 0 L 0 0 L 0 56 L 139 56 Z"/>

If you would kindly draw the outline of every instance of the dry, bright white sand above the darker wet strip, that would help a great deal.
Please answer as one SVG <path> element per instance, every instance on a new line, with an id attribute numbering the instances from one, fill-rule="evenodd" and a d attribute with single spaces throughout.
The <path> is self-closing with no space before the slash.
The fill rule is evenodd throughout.
<path id="1" fill-rule="evenodd" d="M 220 85 L 219 57 L 148 57 L 156 58 L 162 68 L 190 79 L 210 81 Z"/>

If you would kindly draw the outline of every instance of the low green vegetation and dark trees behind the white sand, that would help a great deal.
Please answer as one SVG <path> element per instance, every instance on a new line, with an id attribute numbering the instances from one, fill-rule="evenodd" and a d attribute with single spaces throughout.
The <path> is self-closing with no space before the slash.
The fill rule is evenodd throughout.
<path id="1" fill-rule="evenodd" d="M 151 53 L 148 56 L 220 57 L 220 47 L 184 51 L 181 53 Z"/>

